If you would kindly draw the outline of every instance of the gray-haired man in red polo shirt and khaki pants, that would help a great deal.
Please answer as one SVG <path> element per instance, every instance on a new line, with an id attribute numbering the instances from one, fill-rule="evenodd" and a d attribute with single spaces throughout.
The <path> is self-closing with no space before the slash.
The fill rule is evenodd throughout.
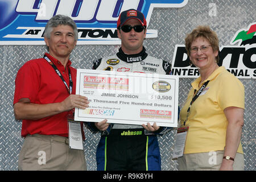
<path id="1" fill-rule="evenodd" d="M 44 32 L 49 53 L 27 61 L 17 73 L 14 114 L 22 119 L 24 137 L 19 170 L 86 170 L 84 151 L 72 149 L 68 139 L 73 126 L 68 118 L 75 107 L 85 109 L 89 104 L 86 97 L 75 94 L 76 69 L 69 55 L 77 38 L 71 18 L 53 16 Z M 77 125 L 84 136 L 82 124 Z"/>

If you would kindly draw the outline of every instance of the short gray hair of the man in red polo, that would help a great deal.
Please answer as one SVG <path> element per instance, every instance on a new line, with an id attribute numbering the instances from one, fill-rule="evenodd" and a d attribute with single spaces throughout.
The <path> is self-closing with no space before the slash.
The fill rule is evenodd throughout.
<path id="1" fill-rule="evenodd" d="M 49 21 L 46 24 L 46 28 L 44 29 L 44 36 L 49 39 L 53 28 L 59 25 L 71 26 L 74 31 L 75 40 L 78 39 L 76 23 L 71 18 L 69 18 L 69 16 L 65 15 L 55 15 L 51 19 L 49 19 Z"/>

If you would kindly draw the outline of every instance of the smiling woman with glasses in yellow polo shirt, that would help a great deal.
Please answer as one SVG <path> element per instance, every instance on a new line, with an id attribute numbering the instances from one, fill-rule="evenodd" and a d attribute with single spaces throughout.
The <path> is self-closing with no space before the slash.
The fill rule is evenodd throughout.
<path id="1" fill-rule="evenodd" d="M 192 82 L 180 112 L 181 127 L 189 129 L 179 169 L 243 170 L 243 85 L 218 66 L 218 37 L 209 26 L 198 26 L 188 34 L 185 47 L 200 77 Z"/>

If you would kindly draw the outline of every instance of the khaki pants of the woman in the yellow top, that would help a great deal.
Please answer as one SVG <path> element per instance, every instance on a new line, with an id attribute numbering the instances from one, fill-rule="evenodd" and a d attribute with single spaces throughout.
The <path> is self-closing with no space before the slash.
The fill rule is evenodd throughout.
<path id="1" fill-rule="evenodd" d="M 177 160 L 180 171 L 218 171 L 221 167 L 224 151 L 212 151 L 196 154 L 184 154 Z M 243 171 L 243 154 L 237 153 L 233 163 L 234 171 Z"/>

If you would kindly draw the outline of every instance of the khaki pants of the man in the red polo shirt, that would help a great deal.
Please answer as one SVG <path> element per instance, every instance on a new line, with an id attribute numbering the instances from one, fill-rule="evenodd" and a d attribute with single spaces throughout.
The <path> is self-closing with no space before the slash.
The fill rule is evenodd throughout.
<path id="1" fill-rule="evenodd" d="M 27 135 L 19 154 L 19 170 L 86 171 L 83 150 L 70 149 L 65 137 Z"/>

